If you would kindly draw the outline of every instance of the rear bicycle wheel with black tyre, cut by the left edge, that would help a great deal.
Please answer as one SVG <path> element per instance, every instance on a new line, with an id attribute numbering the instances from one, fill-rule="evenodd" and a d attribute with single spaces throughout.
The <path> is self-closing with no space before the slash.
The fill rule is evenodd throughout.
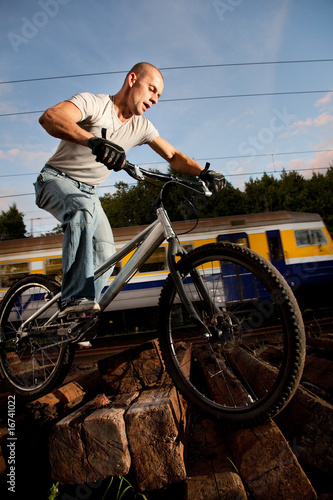
<path id="1" fill-rule="evenodd" d="M 50 320 L 56 302 L 22 324 L 60 290 L 43 275 L 30 275 L 13 285 L 0 307 L 0 372 L 8 389 L 24 400 L 36 399 L 60 384 L 71 366 L 74 346 L 58 335 L 61 322 Z"/>

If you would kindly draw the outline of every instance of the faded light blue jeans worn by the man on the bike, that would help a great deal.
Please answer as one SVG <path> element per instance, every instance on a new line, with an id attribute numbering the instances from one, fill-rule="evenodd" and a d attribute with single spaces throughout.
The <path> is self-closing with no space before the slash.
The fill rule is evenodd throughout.
<path id="1" fill-rule="evenodd" d="M 36 204 L 62 224 L 62 304 L 98 300 L 112 270 L 94 281 L 94 270 L 115 252 L 109 221 L 97 188 L 46 165 L 35 186 Z"/>

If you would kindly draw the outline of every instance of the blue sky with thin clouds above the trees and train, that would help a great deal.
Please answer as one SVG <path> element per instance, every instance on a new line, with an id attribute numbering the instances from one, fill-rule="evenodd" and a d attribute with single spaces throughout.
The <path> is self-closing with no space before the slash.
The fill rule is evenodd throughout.
<path id="1" fill-rule="evenodd" d="M 161 101 L 146 113 L 160 135 L 235 187 L 282 168 L 311 177 L 333 164 L 333 93 L 323 92 L 333 89 L 333 62 L 240 63 L 332 59 L 332 19 L 332 0 L 0 0 L 1 82 L 118 72 L 1 84 L 0 114 L 113 94 L 139 61 L 212 65 L 162 71 Z M 216 98 L 305 91 L 321 92 Z M 190 97 L 215 98 L 173 100 Z M 56 225 L 29 194 L 58 143 L 38 117 L 0 116 L 0 210 L 16 203 L 35 236 Z M 166 169 L 148 146 L 128 159 Z M 118 180 L 132 182 L 112 173 L 100 195 Z"/>

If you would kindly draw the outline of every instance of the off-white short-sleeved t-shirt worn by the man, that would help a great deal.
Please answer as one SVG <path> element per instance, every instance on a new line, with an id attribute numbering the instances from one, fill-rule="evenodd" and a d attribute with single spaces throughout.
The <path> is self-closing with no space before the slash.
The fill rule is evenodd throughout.
<path id="1" fill-rule="evenodd" d="M 145 116 L 132 116 L 122 123 L 114 110 L 113 96 L 108 94 L 84 92 L 74 95 L 68 101 L 75 104 L 82 113 L 82 120 L 78 123 L 80 127 L 96 137 L 102 137 L 102 129 L 105 129 L 105 138 L 118 144 L 126 152 L 134 146 L 149 144 L 159 135 Z M 47 164 L 65 172 L 72 179 L 92 186 L 101 184 L 110 175 L 110 170 L 105 165 L 95 161 L 90 148 L 63 140 Z"/>

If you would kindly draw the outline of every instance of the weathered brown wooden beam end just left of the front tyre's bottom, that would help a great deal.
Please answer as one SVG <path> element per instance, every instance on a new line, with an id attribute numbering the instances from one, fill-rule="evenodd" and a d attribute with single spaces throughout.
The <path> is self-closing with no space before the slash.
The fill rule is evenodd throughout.
<path id="1" fill-rule="evenodd" d="M 184 418 L 184 408 L 173 386 L 142 392 L 127 411 L 127 436 L 141 491 L 185 479 Z"/>

